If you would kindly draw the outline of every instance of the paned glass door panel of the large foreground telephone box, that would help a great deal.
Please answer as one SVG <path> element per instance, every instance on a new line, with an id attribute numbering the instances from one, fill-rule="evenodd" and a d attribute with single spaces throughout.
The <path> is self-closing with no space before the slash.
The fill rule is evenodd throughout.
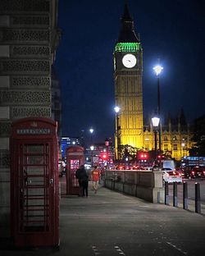
<path id="1" fill-rule="evenodd" d="M 49 231 L 49 144 L 23 144 L 21 149 L 20 231 Z"/>

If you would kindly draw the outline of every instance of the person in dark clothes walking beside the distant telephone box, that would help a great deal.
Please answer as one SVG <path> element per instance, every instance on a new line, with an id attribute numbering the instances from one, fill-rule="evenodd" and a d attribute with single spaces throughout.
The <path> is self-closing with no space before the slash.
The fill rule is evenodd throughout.
<path id="1" fill-rule="evenodd" d="M 81 165 L 80 168 L 76 171 L 76 178 L 79 179 L 80 196 L 86 195 L 86 197 L 88 197 L 89 176 L 84 169 L 84 165 Z"/>

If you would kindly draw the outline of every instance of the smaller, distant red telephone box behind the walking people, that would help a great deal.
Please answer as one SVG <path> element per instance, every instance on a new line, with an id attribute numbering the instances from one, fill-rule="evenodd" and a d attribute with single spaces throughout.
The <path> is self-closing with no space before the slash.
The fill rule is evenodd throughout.
<path id="1" fill-rule="evenodd" d="M 72 146 L 66 149 L 66 194 L 79 194 L 79 182 L 75 178 L 75 171 L 84 164 L 84 148 Z"/>

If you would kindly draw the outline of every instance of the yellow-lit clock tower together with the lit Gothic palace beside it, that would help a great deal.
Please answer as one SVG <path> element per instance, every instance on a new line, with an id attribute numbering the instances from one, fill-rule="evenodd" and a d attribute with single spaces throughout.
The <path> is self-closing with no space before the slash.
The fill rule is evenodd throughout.
<path id="1" fill-rule="evenodd" d="M 115 103 L 120 107 L 116 114 L 115 144 L 130 145 L 146 151 L 154 149 L 154 132 L 151 124 L 144 124 L 143 112 L 143 48 L 139 36 L 134 32 L 134 21 L 125 3 L 121 18 L 121 30 L 114 54 Z M 162 123 L 161 149 L 172 158 L 180 160 L 189 154 L 194 144 L 186 124 L 184 113 L 175 119 Z M 116 146 L 116 156 L 120 158 Z M 118 148 L 118 149 L 117 149 Z"/>

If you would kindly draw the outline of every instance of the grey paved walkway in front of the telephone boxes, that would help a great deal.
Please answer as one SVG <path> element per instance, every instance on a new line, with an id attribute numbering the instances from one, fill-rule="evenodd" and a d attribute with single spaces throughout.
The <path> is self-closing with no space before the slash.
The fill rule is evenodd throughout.
<path id="1" fill-rule="evenodd" d="M 89 197 L 66 195 L 61 178 L 59 249 L 14 249 L 0 254 L 54 256 L 205 255 L 205 216 L 104 188 Z"/>

